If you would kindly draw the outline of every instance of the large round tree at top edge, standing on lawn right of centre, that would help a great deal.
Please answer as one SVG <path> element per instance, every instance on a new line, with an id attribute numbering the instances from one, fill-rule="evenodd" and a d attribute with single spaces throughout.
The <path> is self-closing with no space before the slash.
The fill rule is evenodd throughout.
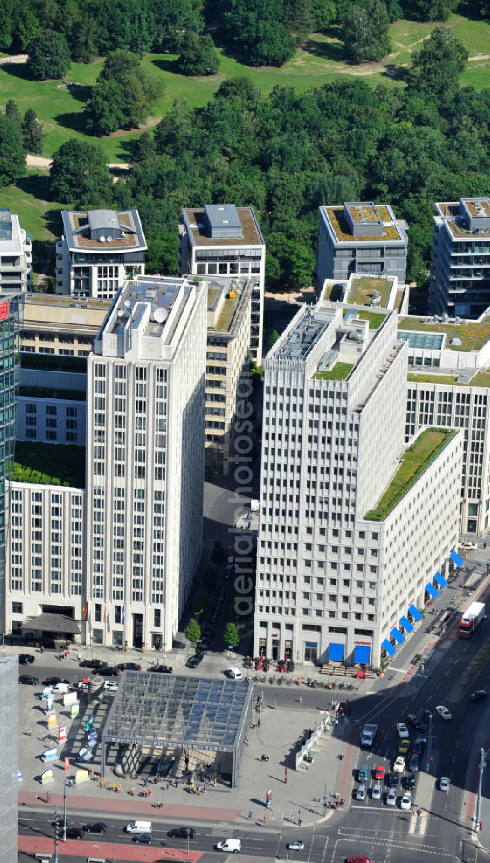
<path id="1" fill-rule="evenodd" d="M 390 52 L 388 13 L 381 0 L 349 7 L 342 25 L 344 52 L 353 63 L 381 60 Z"/>

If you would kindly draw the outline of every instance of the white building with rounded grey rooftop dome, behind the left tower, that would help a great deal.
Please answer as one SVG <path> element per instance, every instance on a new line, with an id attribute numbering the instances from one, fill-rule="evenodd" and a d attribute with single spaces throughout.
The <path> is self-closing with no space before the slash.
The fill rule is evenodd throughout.
<path id="1" fill-rule="evenodd" d="M 56 290 L 76 299 L 112 299 L 126 279 L 144 274 L 147 243 L 137 210 L 61 211 Z"/>

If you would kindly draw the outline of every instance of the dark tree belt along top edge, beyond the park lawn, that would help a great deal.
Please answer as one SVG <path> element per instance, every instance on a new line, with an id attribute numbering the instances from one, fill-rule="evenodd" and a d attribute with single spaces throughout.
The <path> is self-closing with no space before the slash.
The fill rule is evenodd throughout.
<path id="1" fill-rule="evenodd" d="M 346 54 L 358 62 L 363 54 L 381 56 L 389 50 L 385 19 L 446 21 L 456 5 L 457 0 L 3 0 L 0 51 L 35 48 L 35 37 L 53 41 L 55 32 L 63 36 L 56 53 L 63 57 L 67 46 L 78 62 L 118 48 L 180 54 L 189 33 L 205 31 L 253 66 L 280 66 L 311 30 L 349 22 L 349 43 L 360 42 L 361 50 L 349 51 L 348 44 Z M 472 15 L 488 19 L 487 0 L 469 0 L 466 6 Z M 209 43 L 198 47 L 199 53 L 209 51 Z M 192 57 L 195 53 L 192 41 Z M 32 65 L 33 72 L 46 72 L 39 58 Z"/>

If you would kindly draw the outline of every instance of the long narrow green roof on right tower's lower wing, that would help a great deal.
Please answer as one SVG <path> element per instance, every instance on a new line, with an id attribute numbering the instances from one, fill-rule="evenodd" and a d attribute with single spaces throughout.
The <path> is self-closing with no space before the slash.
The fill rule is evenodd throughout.
<path id="1" fill-rule="evenodd" d="M 405 450 L 401 457 L 399 469 L 388 488 L 381 495 L 380 501 L 374 509 L 370 509 L 366 513 L 364 519 L 367 521 L 384 521 L 454 435 L 455 431 L 451 429 L 430 428 L 423 431 L 417 440 Z"/>

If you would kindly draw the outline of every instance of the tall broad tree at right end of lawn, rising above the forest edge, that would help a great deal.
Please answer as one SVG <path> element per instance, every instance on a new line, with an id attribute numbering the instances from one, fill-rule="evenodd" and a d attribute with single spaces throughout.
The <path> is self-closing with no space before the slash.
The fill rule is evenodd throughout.
<path id="1" fill-rule="evenodd" d="M 409 93 L 433 101 L 452 102 L 468 51 L 449 27 L 436 27 L 420 50 L 413 54 L 407 77 Z"/>

